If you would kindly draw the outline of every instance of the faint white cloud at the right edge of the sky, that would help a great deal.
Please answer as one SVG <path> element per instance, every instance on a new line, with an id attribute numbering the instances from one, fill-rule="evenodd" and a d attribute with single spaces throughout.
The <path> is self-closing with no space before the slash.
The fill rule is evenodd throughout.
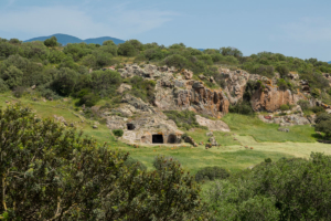
<path id="1" fill-rule="evenodd" d="M 330 22 L 323 18 L 302 18 L 281 25 L 282 33 L 273 35 L 271 39 L 296 40 L 303 43 L 330 42 Z"/>

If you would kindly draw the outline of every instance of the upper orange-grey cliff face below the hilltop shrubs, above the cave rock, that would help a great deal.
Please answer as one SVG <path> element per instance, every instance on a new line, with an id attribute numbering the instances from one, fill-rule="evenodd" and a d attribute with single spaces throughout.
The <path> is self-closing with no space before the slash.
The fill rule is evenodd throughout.
<path id="1" fill-rule="evenodd" d="M 229 71 L 228 69 L 220 69 L 220 74 L 225 82 L 222 90 L 209 88 L 204 82 L 193 76 L 188 70 L 177 70 L 168 66 L 156 65 L 129 65 L 118 70 L 122 77 L 132 77 L 135 75 L 156 81 L 156 94 L 153 105 L 160 110 L 183 110 L 190 109 L 195 113 L 210 115 L 221 118 L 228 113 L 229 104 L 234 105 L 245 97 L 248 83 L 259 81 L 261 86 L 254 90 L 249 96 L 249 103 L 255 112 L 276 112 L 284 104 L 297 104 L 299 99 L 308 99 L 309 86 L 305 81 L 299 80 L 296 73 L 289 73 L 291 83 L 302 87 L 302 93 L 282 91 L 277 86 L 279 76 L 276 74 L 274 78 L 268 78 L 257 74 L 249 74 L 243 70 Z M 327 77 L 327 76 L 325 76 Z M 200 78 L 207 78 L 201 75 Z M 210 77 L 211 82 L 214 82 Z M 215 84 L 215 87 L 216 84 Z M 305 90 L 305 88 L 306 90 Z M 316 105 L 316 101 L 311 99 L 311 105 Z"/>

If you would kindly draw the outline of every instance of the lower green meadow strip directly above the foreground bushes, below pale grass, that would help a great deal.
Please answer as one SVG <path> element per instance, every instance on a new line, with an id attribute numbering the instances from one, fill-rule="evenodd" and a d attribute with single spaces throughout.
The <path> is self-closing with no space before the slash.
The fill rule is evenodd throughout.
<path id="1" fill-rule="evenodd" d="M 220 166 L 231 171 L 237 171 L 252 165 L 259 164 L 268 157 L 275 160 L 281 157 L 291 157 L 285 152 L 252 150 L 245 149 L 242 146 L 213 147 L 209 150 L 205 150 L 202 146 L 191 148 L 188 147 L 188 145 L 186 147 L 172 147 L 172 149 L 164 146 L 140 148 L 124 147 L 120 149 L 129 151 L 132 158 L 143 162 L 148 169 L 152 169 L 152 161 L 156 156 L 172 156 L 179 159 L 182 166 L 192 173 L 209 166 Z"/>

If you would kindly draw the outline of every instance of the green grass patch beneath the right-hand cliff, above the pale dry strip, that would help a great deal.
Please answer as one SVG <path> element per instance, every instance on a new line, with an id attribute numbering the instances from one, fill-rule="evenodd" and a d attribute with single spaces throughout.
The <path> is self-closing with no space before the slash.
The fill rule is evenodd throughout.
<path id="1" fill-rule="evenodd" d="M 222 118 L 233 133 L 241 136 L 252 136 L 257 141 L 296 141 L 314 143 L 314 129 L 310 125 L 291 126 L 289 133 L 278 131 L 279 125 L 266 124 L 256 116 L 246 116 L 239 114 L 227 114 Z"/>

